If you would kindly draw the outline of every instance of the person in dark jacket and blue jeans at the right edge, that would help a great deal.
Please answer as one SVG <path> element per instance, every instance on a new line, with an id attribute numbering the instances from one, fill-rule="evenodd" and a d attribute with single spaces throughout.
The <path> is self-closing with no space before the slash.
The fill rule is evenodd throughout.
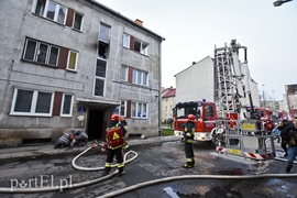
<path id="1" fill-rule="evenodd" d="M 293 124 L 289 124 L 282 131 L 282 134 L 288 141 L 288 165 L 286 172 L 289 173 L 293 167 L 293 161 L 297 156 L 297 118 L 293 120 Z"/>

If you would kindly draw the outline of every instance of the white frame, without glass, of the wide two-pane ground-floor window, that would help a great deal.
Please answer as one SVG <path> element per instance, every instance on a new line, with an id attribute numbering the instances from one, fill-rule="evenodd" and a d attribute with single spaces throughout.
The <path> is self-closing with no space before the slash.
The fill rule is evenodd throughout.
<path id="1" fill-rule="evenodd" d="M 16 105 L 16 99 L 18 99 L 18 91 L 19 90 L 24 90 L 24 91 L 33 91 L 33 97 L 32 97 L 32 101 L 31 101 L 31 109 L 30 112 L 19 112 L 19 111 L 14 111 L 15 109 L 15 105 Z M 36 105 L 37 105 L 37 97 L 38 97 L 38 92 L 47 92 L 52 95 L 51 98 L 51 105 L 50 105 L 50 112 L 48 113 L 38 113 L 35 112 L 36 111 Z M 11 110 L 10 110 L 10 114 L 11 116 L 32 116 L 32 117 L 52 117 L 53 113 L 53 105 L 54 105 L 54 92 L 51 91 L 38 91 L 38 90 L 29 90 L 29 89 L 19 89 L 15 88 L 14 92 L 13 92 L 13 98 L 12 98 L 12 105 L 11 105 Z"/>

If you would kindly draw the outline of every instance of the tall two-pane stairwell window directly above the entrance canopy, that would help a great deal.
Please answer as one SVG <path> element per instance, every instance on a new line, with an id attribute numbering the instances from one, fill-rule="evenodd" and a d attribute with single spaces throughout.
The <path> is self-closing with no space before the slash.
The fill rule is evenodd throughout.
<path id="1" fill-rule="evenodd" d="M 95 76 L 95 96 L 103 96 L 106 81 L 107 62 L 97 58 L 96 76 Z"/>

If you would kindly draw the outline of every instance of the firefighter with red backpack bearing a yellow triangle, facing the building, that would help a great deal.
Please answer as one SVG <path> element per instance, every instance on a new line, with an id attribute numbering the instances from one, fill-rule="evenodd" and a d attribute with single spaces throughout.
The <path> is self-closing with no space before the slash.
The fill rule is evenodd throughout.
<path id="1" fill-rule="evenodd" d="M 107 161 L 105 167 L 105 174 L 108 175 L 112 161 L 116 155 L 119 174 L 118 176 L 122 176 L 124 174 L 124 163 L 123 163 L 123 144 L 124 136 L 123 131 L 119 123 L 119 114 L 112 114 L 111 121 L 107 128 L 107 136 L 106 136 L 108 147 L 107 147 Z"/>

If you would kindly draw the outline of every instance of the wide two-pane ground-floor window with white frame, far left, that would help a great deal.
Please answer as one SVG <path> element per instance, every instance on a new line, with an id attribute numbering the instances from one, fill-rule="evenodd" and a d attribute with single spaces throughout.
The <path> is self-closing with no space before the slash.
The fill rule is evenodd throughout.
<path id="1" fill-rule="evenodd" d="M 14 89 L 10 114 L 50 117 L 53 99 L 53 92 Z"/>

